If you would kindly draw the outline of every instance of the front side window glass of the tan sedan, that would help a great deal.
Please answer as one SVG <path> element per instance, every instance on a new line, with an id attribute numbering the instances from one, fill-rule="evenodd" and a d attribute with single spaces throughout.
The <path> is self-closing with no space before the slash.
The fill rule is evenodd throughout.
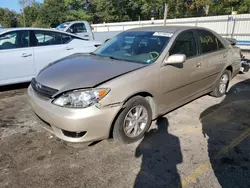
<path id="1" fill-rule="evenodd" d="M 197 55 L 195 36 L 192 31 L 181 33 L 177 37 L 173 47 L 170 50 L 170 55 L 173 54 L 185 54 L 187 58 Z"/>

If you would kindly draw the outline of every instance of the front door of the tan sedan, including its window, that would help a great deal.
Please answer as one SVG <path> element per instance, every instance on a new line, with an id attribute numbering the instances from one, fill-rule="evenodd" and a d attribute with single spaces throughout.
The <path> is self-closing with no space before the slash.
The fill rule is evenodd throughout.
<path id="1" fill-rule="evenodd" d="M 161 111 L 172 108 L 203 89 L 202 57 L 198 55 L 197 41 L 192 30 L 179 34 L 169 55 L 185 54 L 187 60 L 180 65 L 166 65 L 160 69 L 161 91 L 164 103 Z"/>

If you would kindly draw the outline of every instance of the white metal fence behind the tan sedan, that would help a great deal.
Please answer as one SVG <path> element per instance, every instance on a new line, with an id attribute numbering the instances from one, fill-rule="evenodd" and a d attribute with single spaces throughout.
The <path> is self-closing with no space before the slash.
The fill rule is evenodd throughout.
<path id="1" fill-rule="evenodd" d="M 164 20 L 146 20 L 93 24 L 92 27 L 96 33 L 111 33 L 136 27 L 162 26 L 163 24 Z M 205 27 L 216 31 L 223 37 L 235 38 L 239 42 L 249 42 L 250 44 L 250 14 L 168 19 L 166 24 Z"/>

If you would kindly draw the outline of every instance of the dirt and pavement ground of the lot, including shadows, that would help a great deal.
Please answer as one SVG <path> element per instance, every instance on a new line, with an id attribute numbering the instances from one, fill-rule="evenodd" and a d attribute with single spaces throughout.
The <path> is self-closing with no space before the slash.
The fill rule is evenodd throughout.
<path id="1" fill-rule="evenodd" d="M 226 97 L 201 97 L 153 122 L 146 137 L 72 148 L 44 131 L 27 85 L 0 88 L 0 187 L 250 187 L 250 74 Z"/>

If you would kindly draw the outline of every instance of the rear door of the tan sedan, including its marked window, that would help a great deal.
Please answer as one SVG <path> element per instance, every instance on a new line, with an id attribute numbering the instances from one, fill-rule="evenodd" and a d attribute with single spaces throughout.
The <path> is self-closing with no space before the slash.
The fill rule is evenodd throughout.
<path id="1" fill-rule="evenodd" d="M 214 85 L 216 78 L 227 63 L 227 51 L 222 42 L 210 31 L 197 30 L 197 37 L 202 57 L 204 88 Z"/>

